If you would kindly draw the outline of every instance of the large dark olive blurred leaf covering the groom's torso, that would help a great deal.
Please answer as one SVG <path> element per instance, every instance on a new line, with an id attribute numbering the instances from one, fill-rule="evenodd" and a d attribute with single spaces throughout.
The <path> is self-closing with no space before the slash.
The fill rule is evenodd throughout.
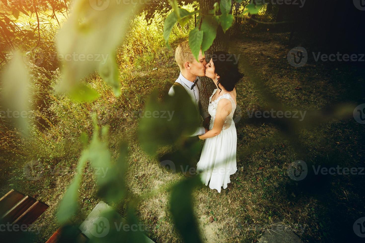
<path id="1" fill-rule="evenodd" d="M 174 87 L 175 94 L 166 94 L 158 101 L 154 90 L 139 121 L 138 137 L 142 148 L 154 155 L 159 146 L 172 145 L 183 135 L 192 134 L 199 126 L 199 113 L 188 93 L 181 87 Z M 184 101 L 184 102 L 181 102 Z"/>

